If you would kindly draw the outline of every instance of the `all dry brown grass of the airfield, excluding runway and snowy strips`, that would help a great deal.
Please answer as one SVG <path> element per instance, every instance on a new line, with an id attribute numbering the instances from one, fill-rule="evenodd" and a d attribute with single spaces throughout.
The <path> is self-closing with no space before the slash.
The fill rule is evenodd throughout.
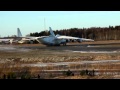
<path id="1" fill-rule="evenodd" d="M 109 43 L 120 43 L 120 40 L 117 41 L 95 41 L 95 42 L 83 42 L 80 44 L 109 44 Z M 74 45 L 76 43 L 69 43 L 70 45 Z M 15 46 L 44 46 L 42 44 L 22 44 Z M 49 51 L 47 49 L 33 50 L 29 52 L 6 52 L 0 51 L 0 77 L 2 78 L 3 74 L 9 74 L 10 72 L 14 72 L 20 77 L 22 73 L 28 71 L 29 74 L 33 77 L 37 77 L 37 74 L 43 73 L 43 70 L 72 70 L 72 69 L 99 69 L 101 72 L 100 76 L 57 76 L 54 73 L 52 77 L 51 73 L 46 75 L 44 78 L 64 78 L 64 79 L 100 79 L 100 78 L 112 78 L 113 75 L 104 75 L 105 71 L 103 70 L 119 70 L 120 63 L 107 63 L 107 64 L 71 64 L 69 66 L 47 66 L 47 67 L 21 67 L 22 64 L 32 64 L 37 62 L 74 62 L 74 61 L 84 61 L 84 60 L 120 60 L 120 53 L 110 53 L 110 54 L 94 54 L 94 53 L 71 53 L 71 52 L 59 52 L 57 51 Z"/>

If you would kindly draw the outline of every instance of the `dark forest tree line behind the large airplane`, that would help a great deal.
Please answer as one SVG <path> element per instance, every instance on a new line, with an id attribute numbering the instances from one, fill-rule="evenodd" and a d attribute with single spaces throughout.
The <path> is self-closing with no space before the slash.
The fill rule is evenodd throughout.
<path id="1" fill-rule="evenodd" d="M 89 38 L 94 40 L 120 40 L 120 25 L 109 27 L 91 27 L 91 28 L 70 28 L 53 31 L 59 35 Z M 50 32 L 41 31 L 30 33 L 30 36 L 49 36 Z"/>

